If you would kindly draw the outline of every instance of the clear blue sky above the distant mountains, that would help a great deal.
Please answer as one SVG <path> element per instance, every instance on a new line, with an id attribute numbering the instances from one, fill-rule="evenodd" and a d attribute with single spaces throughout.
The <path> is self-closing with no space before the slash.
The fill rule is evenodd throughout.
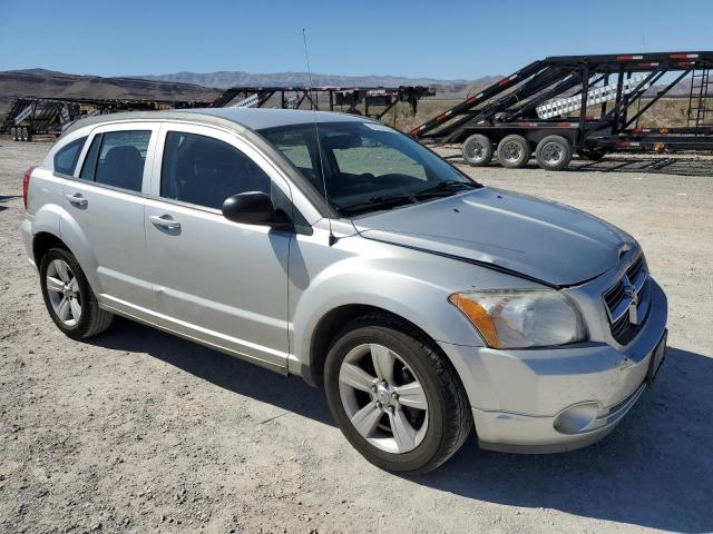
<path id="1" fill-rule="evenodd" d="M 713 0 L 0 0 L 0 70 L 475 79 L 546 56 L 712 50 Z"/>

